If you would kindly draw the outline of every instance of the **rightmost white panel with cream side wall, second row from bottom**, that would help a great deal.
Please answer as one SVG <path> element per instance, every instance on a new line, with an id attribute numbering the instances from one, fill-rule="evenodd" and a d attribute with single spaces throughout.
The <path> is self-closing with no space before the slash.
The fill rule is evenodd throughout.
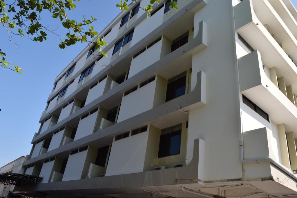
<path id="1" fill-rule="evenodd" d="M 155 80 L 123 96 L 119 117 L 121 122 L 165 103 L 167 81 L 157 75 Z"/>

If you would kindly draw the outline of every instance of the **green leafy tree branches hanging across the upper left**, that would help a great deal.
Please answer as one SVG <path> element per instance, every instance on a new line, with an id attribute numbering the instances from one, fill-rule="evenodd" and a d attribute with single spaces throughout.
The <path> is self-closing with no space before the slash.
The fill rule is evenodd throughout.
<path id="1" fill-rule="evenodd" d="M 57 24 L 61 23 L 67 30 L 66 35 L 63 36 L 66 39 L 62 40 L 60 38 L 59 47 L 61 49 L 75 45 L 78 42 L 87 43 L 90 48 L 95 47 L 100 56 L 103 55 L 106 57 L 107 53 L 102 51 L 102 49 L 108 44 L 102 38 L 98 37 L 98 32 L 94 30 L 94 26 L 91 26 L 97 19 L 92 16 L 90 18 L 83 16 L 79 21 L 69 18 L 68 13 L 76 8 L 75 1 L 80 0 L 0 0 L 0 22 L 8 33 L 8 39 L 14 45 L 17 44 L 12 41 L 12 35 L 20 37 L 25 37 L 26 35 L 33 42 L 43 42 L 46 41 L 48 34 L 56 34 L 56 29 L 49 29 L 48 24 L 42 24 L 40 21 L 41 15 L 49 15 L 57 19 Z M 150 0 L 149 5 L 140 8 L 146 11 L 147 17 L 149 17 L 152 6 L 154 4 L 159 5 L 160 1 Z M 137 0 L 121 0 L 116 7 L 124 11 L 132 4 L 138 4 Z M 170 9 L 178 9 L 176 5 L 176 1 L 170 0 Z M 59 35 L 57 36 L 61 37 Z M 0 49 L 0 56 L 0 66 L 22 75 L 21 67 L 16 64 L 15 68 L 9 66 L 9 62 L 5 60 L 6 54 L 2 49 Z M 94 52 L 93 56 L 96 60 Z"/>

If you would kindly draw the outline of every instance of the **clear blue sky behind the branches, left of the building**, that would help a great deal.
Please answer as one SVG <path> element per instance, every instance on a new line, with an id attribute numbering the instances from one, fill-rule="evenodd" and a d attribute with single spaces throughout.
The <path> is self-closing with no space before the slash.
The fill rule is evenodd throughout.
<path id="1" fill-rule="evenodd" d="M 98 32 L 102 31 L 116 15 L 119 0 L 82 0 L 77 2 L 74 12 L 69 12 L 71 18 L 80 19 L 83 15 L 89 18 L 101 18 L 93 25 Z M 292 0 L 297 7 L 297 0 Z M 104 4 L 104 7 L 100 6 Z M 43 24 L 56 28 L 58 20 L 43 17 Z M 65 34 L 62 26 L 58 34 Z M 0 28 L 1 49 L 7 53 L 6 59 L 13 65 L 17 63 L 23 68 L 23 76 L 0 68 L 0 167 L 13 159 L 29 154 L 30 143 L 38 122 L 45 109 L 48 96 L 53 89 L 56 76 L 72 61 L 86 46 L 77 44 L 68 49 L 59 49 L 59 37 L 48 33 L 46 42 L 32 42 L 26 37 L 15 36 L 13 41 L 18 49 L 9 41 L 7 32 Z"/>

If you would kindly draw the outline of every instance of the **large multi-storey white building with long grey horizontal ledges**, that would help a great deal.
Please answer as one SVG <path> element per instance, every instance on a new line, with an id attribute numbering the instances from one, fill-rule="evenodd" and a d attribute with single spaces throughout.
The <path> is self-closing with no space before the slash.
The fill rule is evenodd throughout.
<path id="1" fill-rule="evenodd" d="M 107 58 L 86 47 L 56 77 L 24 163 L 42 180 L 18 193 L 297 196 L 296 9 L 177 3 L 133 4 L 99 35 Z"/>

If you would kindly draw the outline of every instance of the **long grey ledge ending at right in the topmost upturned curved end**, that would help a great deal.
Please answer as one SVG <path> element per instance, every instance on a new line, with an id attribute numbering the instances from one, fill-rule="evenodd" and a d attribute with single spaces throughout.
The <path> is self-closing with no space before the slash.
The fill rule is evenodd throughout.
<path id="1" fill-rule="evenodd" d="M 168 55 L 164 56 L 161 58 L 159 61 L 155 62 L 154 64 L 148 66 L 146 69 L 143 69 L 142 71 L 138 72 L 136 75 L 130 77 L 120 85 L 116 86 L 113 89 L 108 90 L 105 94 L 100 96 L 99 98 L 95 99 L 93 102 L 90 102 L 87 104 L 85 107 L 79 109 L 75 113 L 69 115 L 67 118 L 63 119 L 62 121 L 58 122 L 56 125 L 52 126 L 51 128 L 47 129 L 45 132 L 42 134 L 37 135 L 36 137 L 33 138 L 31 143 L 34 143 L 44 137 L 50 137 L 49 134 L 56 129 L 59 129 L 62 126 L 65 126 L 69 121 L 79 118 L 82 116 L 85 112 L 93 110 L 95 107 L 101 106 L 102 104 L 117 104 L 116 102 L 121 102 L 115 101 L 116 98 L 122 97 L 122 94 L 132 88 L 133 86 L 137 85 L 140 83 L 143 79 L 149 78 L 155 74 L 158 73 L 158 69 L 163 67 L 166 64 L 169 64 L 172 61 L 178 61 L 179 58 L 183 58 L 184 56 L 191 57 L 192 54 L 197 53 L 198 51 L 204 49 L 207 45 L 207 40 L 206 40 L 206 23 L 203 21 L 200 21 L 198 24 L 199 27 L 199 32 L 197 36 L 191 41 L 188 42 L 187 44 L 181 46 L 177 50 L 169 53 Z M 128 52 L 126 52 L 128 53 Z M 126 54 L 124 53 L 123 56 Z M 98 77 L 100 74 L 97 74 L 94 77 Z M 91 83 L 88 83 L 86 86 L 90 85 Z M 71 94 L 67 98 L 73 98 L 75 94 L 77 94 L 80 90 L 76 90 L 73 94 Z M 112 106 L 110 107 L 112 108 Z"/>

